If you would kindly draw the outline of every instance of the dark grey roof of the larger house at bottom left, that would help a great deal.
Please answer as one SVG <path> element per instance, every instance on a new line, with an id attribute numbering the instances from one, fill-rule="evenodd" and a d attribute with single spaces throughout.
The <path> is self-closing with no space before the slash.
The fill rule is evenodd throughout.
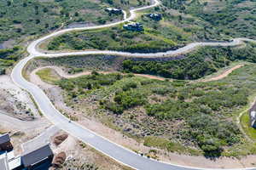
<path id="1" fill-rule="evenodd" d="M 21 162 L 25 167 L 29 167 L 43 161 L 45 158 L 48 158 L 48 156 L 53 156 L 53 152 L 50 149 L 49 144 L 46 144 L 37 150 L 33 150 L 32 152 L 21 156 Z"/>

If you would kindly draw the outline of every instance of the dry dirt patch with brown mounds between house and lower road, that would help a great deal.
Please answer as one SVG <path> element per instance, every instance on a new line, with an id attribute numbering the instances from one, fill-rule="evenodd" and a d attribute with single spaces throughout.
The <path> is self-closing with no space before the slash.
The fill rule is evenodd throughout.
<path id="1" fill-rule="evenodd" d="M 55 155 L 65 152 L 67 156 L 67 160 L 60 168 L 61 170 L 96 170 L 97 168 L 101 170 L 130 170 L 130 168 L 119 165 L 107 156 L 103 156 L 78 139 L 74 139 L 71 135 L 68 135 L 61 144 L 55 145 L 55 138 L 63 134 L 67 133 L 60 132 L 52 138 Z"/>

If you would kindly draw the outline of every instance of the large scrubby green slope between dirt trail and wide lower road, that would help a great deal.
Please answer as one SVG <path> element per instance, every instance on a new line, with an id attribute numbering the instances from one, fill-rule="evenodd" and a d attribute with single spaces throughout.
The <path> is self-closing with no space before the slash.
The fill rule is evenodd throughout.
<path id="1" fill-rule="evenodd" d="M 177 148 L 172 151 L 188 152 L 186 145 L 205 156 L 237 156 L 254 153 L 232 117 L 255 93 L 255 69 L 255 64 L 246 65 L 218 82 L 162 82 L 94 71 L 56 83 L 68 105 L 86 112 L 94 108 L 94 116 L 109 117 L 132 136 L 164 138 L 171 144 L 166 149 Z"/>

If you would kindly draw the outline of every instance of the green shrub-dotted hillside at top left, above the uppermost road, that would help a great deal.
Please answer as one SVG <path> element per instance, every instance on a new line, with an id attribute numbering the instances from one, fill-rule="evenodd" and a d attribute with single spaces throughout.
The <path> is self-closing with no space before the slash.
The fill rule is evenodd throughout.
<path id="1" fill-rule="evenodd" d="M 104 11 L 108 6 L 137 7 L 148 1 L 132 0 L 7 0 L 0 1 L 0 43 L 31 35 L 53 31 L 64 24 L 73 22 L 95 23 L 121 19 L 121 15 L 109 15 Z"/>

